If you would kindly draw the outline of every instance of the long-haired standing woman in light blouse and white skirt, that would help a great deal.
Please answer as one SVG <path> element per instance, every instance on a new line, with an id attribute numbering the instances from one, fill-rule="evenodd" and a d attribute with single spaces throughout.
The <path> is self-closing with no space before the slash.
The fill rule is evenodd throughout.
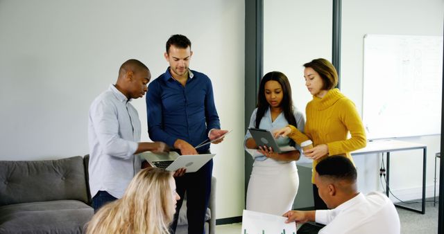
<path id="1" fill-rule="evenodd" d="M 248 127 L 273 132 L 289 124 L 295 125 L 301 132 L 304 130 L 304 117 L 293 107 L 289 80 L 279 71 L 266 73 L 257 94 L 257 108 L 251 114 Z M 288 137 L 278 138 L 277 142 L 280 147 L 294 144 Z M 258 150 L 253 154 L 255 161 L 248 181 L 246 209 L 282 215 L 292 208 L 298 192 L 296 161 L 300 151 L 278 154 L 263 145 L 256 145 L 250 132 L 246 133 L 244 144 L 246 149 Z M 300 149 L 298 145 L 296 147 Z"/>

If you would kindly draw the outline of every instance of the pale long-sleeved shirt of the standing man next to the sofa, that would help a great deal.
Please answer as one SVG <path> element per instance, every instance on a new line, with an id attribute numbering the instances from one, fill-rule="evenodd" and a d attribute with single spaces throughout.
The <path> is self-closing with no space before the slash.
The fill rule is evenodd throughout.
<path id="1" fill-rule="evenodd" d="M 89 107 L 89 188 L 94 197 L 99 190 L 121 198 L 140 170 L 134 156 L 140 141 L 141 125 L 137 110 L 113 84 Z"/>

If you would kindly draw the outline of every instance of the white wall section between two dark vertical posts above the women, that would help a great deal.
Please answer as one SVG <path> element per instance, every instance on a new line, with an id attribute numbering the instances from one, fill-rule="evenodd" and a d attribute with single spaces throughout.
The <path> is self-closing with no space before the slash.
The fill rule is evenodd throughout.
<path id="1" fill-rule="evenodd" d="M 331 60 L 331 22 L 331 1 L 264 0 L 264 74 L 287 75 L 294 105 L 304 114 L 311 95 L 302 64 L 318 57 Z"/>

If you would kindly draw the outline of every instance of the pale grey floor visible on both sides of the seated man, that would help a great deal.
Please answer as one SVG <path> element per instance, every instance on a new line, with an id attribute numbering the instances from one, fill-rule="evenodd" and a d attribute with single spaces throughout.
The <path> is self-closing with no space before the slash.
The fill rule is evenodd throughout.
<path id="1" fill-rule="evenodd" d="M 420 208 L 420 204 L 411 205 L 412 208 Z M 427 199 L 425 215 L 414 213 L 402 208 L 396 208 L 400 215 L 401 234 L 438 233 L 438 204 L 434 206 L 433 199 Z M 216 234 L 242 234 L 242 224 L 225 224 L 216 226 Z"/>

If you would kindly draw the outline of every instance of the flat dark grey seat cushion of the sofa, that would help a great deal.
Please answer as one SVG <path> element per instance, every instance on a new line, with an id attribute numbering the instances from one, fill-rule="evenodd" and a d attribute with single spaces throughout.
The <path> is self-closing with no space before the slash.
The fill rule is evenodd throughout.
<path id="1" fill-rule="evenodd" d="M 94 210 L 82 201 L 0 206 L 0 233 L 83 233 Z"/>

